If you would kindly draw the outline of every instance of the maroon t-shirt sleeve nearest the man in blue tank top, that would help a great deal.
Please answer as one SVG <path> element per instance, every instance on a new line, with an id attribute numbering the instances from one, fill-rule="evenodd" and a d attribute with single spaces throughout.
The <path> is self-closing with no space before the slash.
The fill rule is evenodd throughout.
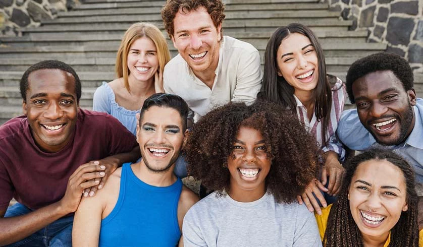
<path id="1" fill-rule="evenodd" d="M 106 118 L 107 133 L 109 133 L 109 155 L 129 152 L 138 145 L 135 136 L 118 119 L 111 115 Z"/>

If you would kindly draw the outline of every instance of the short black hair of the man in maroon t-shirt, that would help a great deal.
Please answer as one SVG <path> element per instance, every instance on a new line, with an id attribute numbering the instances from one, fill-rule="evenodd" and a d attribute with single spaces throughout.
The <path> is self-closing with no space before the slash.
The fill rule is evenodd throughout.
<path id="1" fill-rule="evenodd" d="M 63 61 L 59 61 L 59 60 L 44 60 L 44 61 L 40 61 L 39 63 L 36 63 L 35 65 L 32 65 L 31 67 L 29 67 L 25 73 L 23 74 L 22 78 L 21 78 L 21 82 L 19 84 L 19 89 L 21 91 L 21 96 L 22 99 L 24 100 L 24 102 L 26 102 L 26 91 L 28 90 L 28 77 L 29 75 L 37 70 L 61 70 L 61 71 L 65 71 L 68 73 L 71 73 L 72 76 L 75 78 L 75 93 L 76 93 L 76 100 L 79 102 L 79 99 L 81 98 L 81 91 L 82 91 L 82 86 L 81 86 L 81 81 L 79 80 L 78 75 L 76 74 L 75 70 L 72 69 L 71 66 L 63 63 Z"/>

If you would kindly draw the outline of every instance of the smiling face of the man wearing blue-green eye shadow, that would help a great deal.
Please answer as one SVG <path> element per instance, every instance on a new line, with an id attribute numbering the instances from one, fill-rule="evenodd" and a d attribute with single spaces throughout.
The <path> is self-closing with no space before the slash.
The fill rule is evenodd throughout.
<path id="1" fill-rule="evenodd" d="M 142 162 L 153 172 L 168 171 L 178 159 L 185 133 L 179 112 L 170 107 L 151 106 L 137 126 Z"/>

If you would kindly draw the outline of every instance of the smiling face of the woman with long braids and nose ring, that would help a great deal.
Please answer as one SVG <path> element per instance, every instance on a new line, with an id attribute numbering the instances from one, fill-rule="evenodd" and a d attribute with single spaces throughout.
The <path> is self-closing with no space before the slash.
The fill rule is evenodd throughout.
<path id="1" fill-rule="evenodd" d="M 408 209 L 404 175 L 387 160 L 360 163 L 348 191 L 351 214 L 363 238 L 386 239 Z"/>

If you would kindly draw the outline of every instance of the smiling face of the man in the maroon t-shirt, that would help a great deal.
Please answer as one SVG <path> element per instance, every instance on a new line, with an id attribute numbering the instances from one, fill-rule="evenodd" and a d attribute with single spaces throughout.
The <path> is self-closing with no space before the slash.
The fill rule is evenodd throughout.
<path id="1" fill-rule="evenodd" d="M 72 140 L 75 131 L 78 112 L 75 78 L 59 69 L 32 72 L 22 108 L 38 147 L 48 153 L 60 151 Z"/>

